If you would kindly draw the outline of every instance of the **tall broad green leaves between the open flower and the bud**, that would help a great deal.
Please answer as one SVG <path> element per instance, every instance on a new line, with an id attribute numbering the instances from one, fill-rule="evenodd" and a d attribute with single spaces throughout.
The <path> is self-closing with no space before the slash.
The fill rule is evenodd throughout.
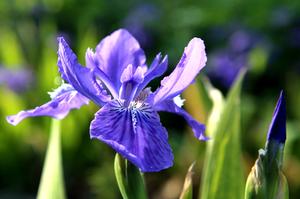
<path id="1" fill-rule="evenodd" d="M 209 88 L 213 109 L 207 125 L 206 159 L 201 199 L 239 199 L 244 195 L 240 145 L 240 92 L 245 71 L 241 71 L 223 102 L 219 91 Z"/>

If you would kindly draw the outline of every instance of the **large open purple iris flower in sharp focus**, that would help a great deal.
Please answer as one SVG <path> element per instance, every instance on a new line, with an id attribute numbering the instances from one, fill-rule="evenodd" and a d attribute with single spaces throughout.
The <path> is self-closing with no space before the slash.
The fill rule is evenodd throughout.
<path id="1" fill-rule="evenodd" d="M 206 140 L 205 126 L 180 106 L 178 95 L 205 66 L 204 43 L 193 38 L 174 71 L 151 92 L 145 88 L 167 69 L 167 56 L 158 54 L 147 67 L 136 39 L 120 29 L 105 37 L 95 52 L 86 52 L 86 67 L 81 66 L 66 41 L 58 38 L 58 67 L 68 82 L 50 93 L 52 100 L 29 111 L 9 116 L 16 125 L 26 117 L 51 116 L 62 119 L 70 109 L 93 101 L 101 108 L 90 125 L 90 136 L 111 146 L 143 172 L 166 169 L 173 164 L 168 133 L 160 123 L 158 111 L 185 118 L 199 140 Z"/>

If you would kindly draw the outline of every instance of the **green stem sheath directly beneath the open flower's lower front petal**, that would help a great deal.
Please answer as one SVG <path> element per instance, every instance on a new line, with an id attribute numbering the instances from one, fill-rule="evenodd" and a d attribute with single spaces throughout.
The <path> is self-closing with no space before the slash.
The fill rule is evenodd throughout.
<path id="1" fill-rule="evenodd" d="M 115 156 L 114 167 L 119 190 L 124 199 L 147 198 L 144 177 L 138 168 L 118 153 Z"/>

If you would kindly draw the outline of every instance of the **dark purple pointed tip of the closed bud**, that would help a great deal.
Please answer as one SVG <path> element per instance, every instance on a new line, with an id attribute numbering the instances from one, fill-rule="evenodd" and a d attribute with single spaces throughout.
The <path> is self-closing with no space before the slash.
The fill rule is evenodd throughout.
<path id="1" fill-rule="evenodd" d="M 276 140 L 285 143 L 286 140 L 286 105 L 284 93 L 281 91 L 276 108 L 273 113 L 272 122 L 269 127 L 268 140 Z"/>

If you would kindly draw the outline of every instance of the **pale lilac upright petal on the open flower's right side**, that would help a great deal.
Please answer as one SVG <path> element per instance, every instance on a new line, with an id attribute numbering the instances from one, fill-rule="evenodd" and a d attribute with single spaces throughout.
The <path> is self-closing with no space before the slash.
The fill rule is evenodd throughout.
<path id="1" fill-rule="evenodd" d="M 172 99 L 187 88 L 206 64 L 205 46 L 201 39 L 193 38 L 184 49 L 181 60 L 174 71 L 161 81 L 155 91 L 153 104 Z"/>

